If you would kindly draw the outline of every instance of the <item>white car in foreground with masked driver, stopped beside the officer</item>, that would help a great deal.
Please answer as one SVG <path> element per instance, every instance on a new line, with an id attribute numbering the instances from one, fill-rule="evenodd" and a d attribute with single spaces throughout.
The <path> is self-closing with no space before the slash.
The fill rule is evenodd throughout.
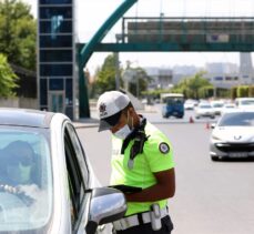
<path id="1" fill-rule="evenodd" d="M 101 187 L 69 118 L 0 109 L 0 233 L 105 233 L 125 211 L 122 192 Z"/>

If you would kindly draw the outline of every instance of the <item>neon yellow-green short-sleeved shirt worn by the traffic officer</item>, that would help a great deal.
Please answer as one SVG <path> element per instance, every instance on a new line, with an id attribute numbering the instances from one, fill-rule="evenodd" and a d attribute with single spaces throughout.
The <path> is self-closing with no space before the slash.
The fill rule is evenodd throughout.
<path id="1" fill-rule="evenodd" d="M 123 140 L 112 136 L 111 185 L 124 184 L 146 189 L 156 183 L 153 173 L 174 167 L 173 152 L 169 139 L 149 122 L 145 125 L 145 134 L 149 139 L 144 143 L 143 153 L 135 156 L 132 169 L 128 166 L 128 163 L 134 141 L 132 140 L 124 154 L 121 154 Z M 167 200 L 161 200 L 158 203 L 163 208 L 166 206 Z M 150 211 L 151 204 L 152 202 L 129 202 L 125 216 Z"/>

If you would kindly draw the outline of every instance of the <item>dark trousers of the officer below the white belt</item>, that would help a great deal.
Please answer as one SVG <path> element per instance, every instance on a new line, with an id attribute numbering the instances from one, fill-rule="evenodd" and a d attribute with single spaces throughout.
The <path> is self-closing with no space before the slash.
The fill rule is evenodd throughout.
<path id="1" fill-rule="evenodd" d="M 141 224 L 139 226 L 133 226 L 124 231 L 116 231 L 116 234 L 171 234 L 173 230 L 173 223 L 170 216 L 165 216 L 162 218 L 162 228 L 159 231 L 153 231 L 152 224 Z"/>

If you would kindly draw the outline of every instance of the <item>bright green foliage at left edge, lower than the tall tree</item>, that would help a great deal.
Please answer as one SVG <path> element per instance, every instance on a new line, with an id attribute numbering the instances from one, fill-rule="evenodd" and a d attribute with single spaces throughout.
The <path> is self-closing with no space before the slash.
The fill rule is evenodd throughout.
<path id="1" fill-rule="evenodd" d="M 0 96 L 14 96 L 13 89 L 18 87 L 16 84 L 17 80 L 18 77 L 7 62 L 7 58 L 0 53 Z"/>

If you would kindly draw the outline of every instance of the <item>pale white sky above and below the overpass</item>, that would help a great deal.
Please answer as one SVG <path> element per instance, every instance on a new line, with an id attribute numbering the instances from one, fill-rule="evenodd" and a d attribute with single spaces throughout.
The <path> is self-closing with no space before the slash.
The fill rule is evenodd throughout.
<path id="1" fill-rule="evenodd" d="M 22 0 L 32 6 L 37 17 L 37 0 Z M 77 37 L 79 42 L 88 42 L 93 33 L 120 6 L 123 0 L 75 0 Z M 125 16 L 128 17 L 254 17 L 254 0 L 139 0 Z M 104 41 L 115 41 L 121 32 L 121 22 L 116 23 Z M 101 67 L 109 53 L 93 53 L 87 68 L 93 73 Z M 240 63 L 236 52 L 121 52 L 120 61 L 132 67 L 196 65 L 205 67 L 211 62 Z M 253 54 L 252 54 L 253 57 Z"/>

